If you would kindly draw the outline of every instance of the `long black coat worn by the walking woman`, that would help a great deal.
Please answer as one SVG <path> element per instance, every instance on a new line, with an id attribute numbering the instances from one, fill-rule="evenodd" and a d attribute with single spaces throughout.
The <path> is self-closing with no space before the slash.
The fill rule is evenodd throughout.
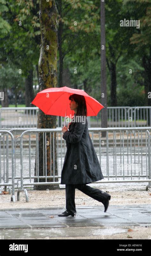
<path id="1" fill-rule="evenodd" d="M 84 122 L 83 122 L 84 123 Z M 88 121 L 72 122 L 64 132 L 67 152 L 61 172 L 61 184 L 89 184 L 104 179 L 91 141 Z"/>

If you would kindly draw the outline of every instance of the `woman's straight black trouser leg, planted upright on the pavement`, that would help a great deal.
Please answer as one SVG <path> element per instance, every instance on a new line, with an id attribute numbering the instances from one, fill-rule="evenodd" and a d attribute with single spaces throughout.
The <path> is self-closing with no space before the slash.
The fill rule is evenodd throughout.
<path id="1" fill-rule="evenodd" d="M 74 184 L 66 184 L 66 209 L 70 213 L 76 213 Z"/>

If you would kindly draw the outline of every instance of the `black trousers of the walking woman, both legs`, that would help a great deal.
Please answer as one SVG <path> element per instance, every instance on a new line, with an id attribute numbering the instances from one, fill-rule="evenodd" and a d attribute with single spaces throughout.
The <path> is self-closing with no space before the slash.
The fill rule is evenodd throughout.
<path id="1" fill-rule="evenodd" d="M 71 213 L 76 213 L 75 189 L 82 191 L 91 198 L 103 202 L 109 200 L 110 195 L 102 190 L 92 188 L 86 184 L 66 184 L 66 209 Z"/>

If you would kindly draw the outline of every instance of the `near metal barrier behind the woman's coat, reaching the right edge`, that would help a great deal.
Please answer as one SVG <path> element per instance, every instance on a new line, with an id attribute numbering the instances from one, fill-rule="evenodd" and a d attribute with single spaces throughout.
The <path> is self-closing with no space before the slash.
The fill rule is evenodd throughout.
<path id="1" fill-rule="evenodd" d="M 103 176 L 108 179 L 95 183 L 147 182 L 150 186 L 150 129 L 151 127 L 90 128 L 90 137 L 95 145 Z M 103 131 L 106 131 L 106 137 L 101 138 L 100 133 Z M 35 150 L 31 147 L 32 136 L 36 139 Z M 28 141 L 26 153 L 23 139 Z M 40 147 L 39 143 L 41 143 Z M 62 146 L 64 146 L 63 150 Z M 22 132 L 20 136 L 21 188 L 18 189 L 17 200 L 19 200 L 19 192 L 25 192 L 26 201 L 28 201 L 25 186 L 60 184 L 60 181 L 55 179 L 61 178 L 65 149 L 66 141 L 63 139 L 62 143 L 60 128 L 30 129 Z M 50 178 L 53 181 L 49 182 Z"/>

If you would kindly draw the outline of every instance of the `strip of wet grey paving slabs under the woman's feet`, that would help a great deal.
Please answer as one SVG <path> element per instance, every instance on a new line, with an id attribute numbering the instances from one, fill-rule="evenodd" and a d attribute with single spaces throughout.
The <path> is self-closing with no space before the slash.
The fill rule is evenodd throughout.
<path id="1" fill-rule="evenodd" d="M 150 205 L 76 207 L 76 217 L 59 217 L 63 208 L 12 209 L 0 211 L 0 229 L 121 227 L 151 225 Z M 54 216 L 51 218 L 51 216 Z"/>

